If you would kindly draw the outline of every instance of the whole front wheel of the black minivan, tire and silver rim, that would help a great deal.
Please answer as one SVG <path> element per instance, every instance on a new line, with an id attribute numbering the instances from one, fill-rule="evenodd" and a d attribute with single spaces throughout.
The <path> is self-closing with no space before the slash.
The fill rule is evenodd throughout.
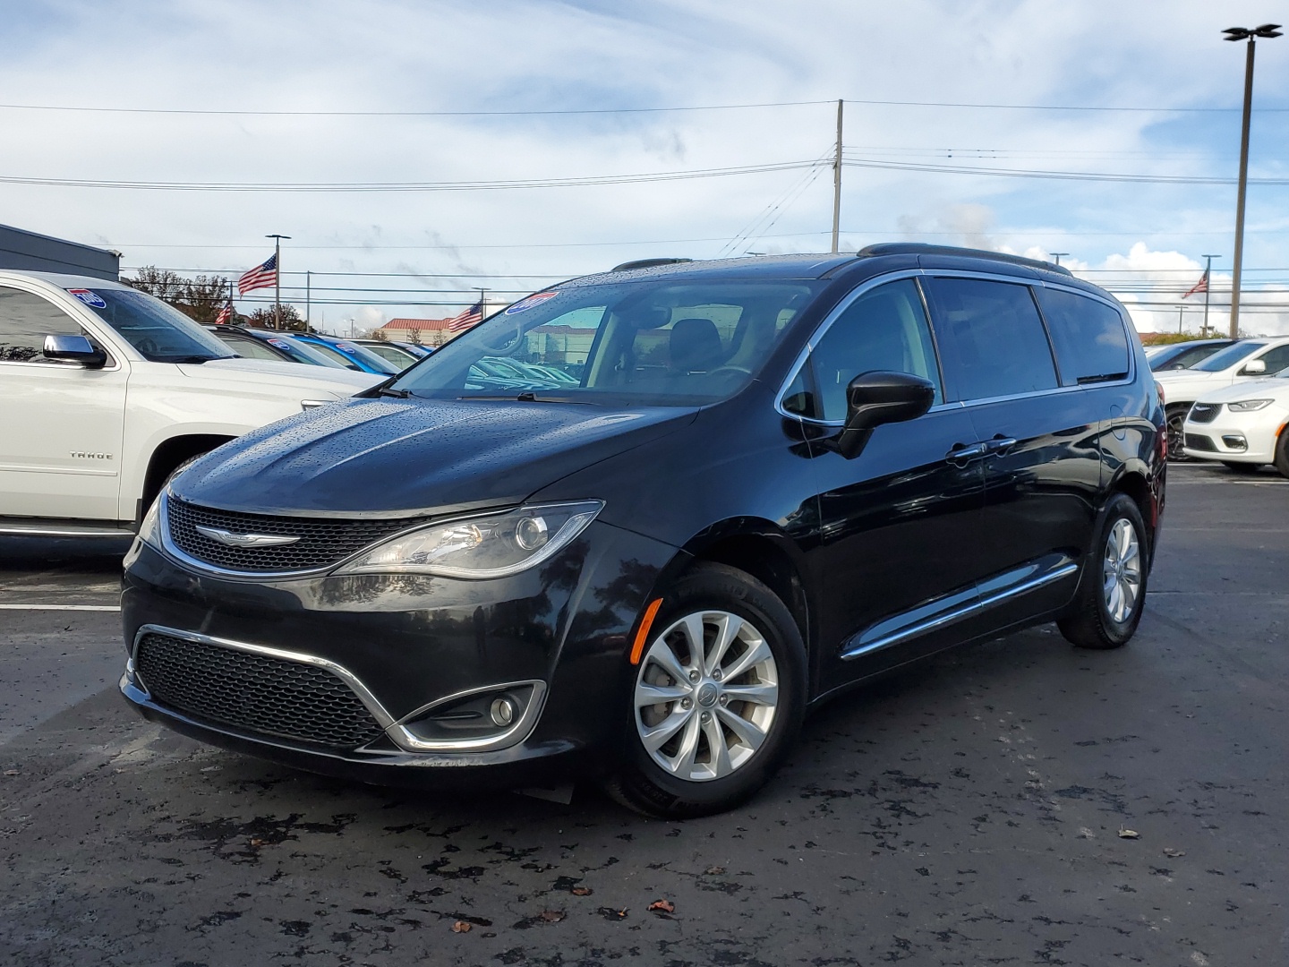
<path id="1" fill-rule="evenodd" d="M 664 597 L 626 705 L 610 796 L 668 819 L 732 808 L 766 784 L 800 730 L 797 623 L 755 578 L 699 565 Z"/>

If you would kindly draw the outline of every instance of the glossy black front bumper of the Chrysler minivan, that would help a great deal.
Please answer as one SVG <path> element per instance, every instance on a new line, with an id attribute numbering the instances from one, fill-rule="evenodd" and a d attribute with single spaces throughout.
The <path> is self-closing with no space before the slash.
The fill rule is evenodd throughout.
<path id="1" fill-rule="evenodd" d="M 146 718 L 316 772 L 445 789 L 544 784 L 556 774 L 599 770 L 616 749 L 626 721 L 630 632 L 675 556 L 666 544 L 594 522 L 544 565 L 501 580 L 242 580 L 137 544 L 122 594 L 130 656 L 121 691 Z M 218 655 L 219 674 L 168 691 L 157 689 L 157 673 L 150 686 L 138 663 L 139 642 L 150 634 Z M 271 668 L 251 682 L 237 663 L 247 655 L 287 670 Z M 231 665 L 223 661 L 229 656 Z M 266 723 L 282 703 L 299 712 L 321 695 L 311 691 L 320 674 L 322 691 L 348 690 L 351 705 L 357 696 L 371 714 L 370 740 L 347 748 Z M 415 723 L 427 709 L 516 683 L 531 687 L 531 703 L 501 741 L 418 744 Z M 202 689 L 219 700 L 202 700 Z M 330 714 L 313 713 L 315 722 Z"/>

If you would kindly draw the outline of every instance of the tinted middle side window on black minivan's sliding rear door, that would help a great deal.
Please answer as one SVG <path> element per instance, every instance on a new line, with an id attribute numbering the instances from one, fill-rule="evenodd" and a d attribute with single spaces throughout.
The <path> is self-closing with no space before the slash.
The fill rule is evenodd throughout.
<path id="1" fill-rule="evenodd" d="M 951 277 L 926 285 L 953 398 L 1056 388 L 1052 347 L 1027 285 Z"/>

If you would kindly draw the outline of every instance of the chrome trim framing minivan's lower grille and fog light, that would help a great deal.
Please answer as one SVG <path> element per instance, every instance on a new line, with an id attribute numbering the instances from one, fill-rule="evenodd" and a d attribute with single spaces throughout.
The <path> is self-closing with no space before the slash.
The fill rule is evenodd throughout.
<path id="1" fill-rule="evenodd" d="M 245 651 L 251 655 L 264 655 L 267 658 L 280 658 L 286 661 L 298 661 L 305 665 L 313 665 L 316 668 L 322 668 L 331 674 L 340 678 L 352 691 L 357 695 L 358 701 L 363 704 L 371 717 L 376 719 L 385 736 L 403 752 L 495 752 L 498 749 L 504 749 L 516 743 L 522 741 L 528 737 L 528 734 L 536 726 L 538 717 L 541 714 L 541 709 L 545 707 L 545 682 L 540 679 L 522 681 L 522 682 L 503 682 L 500 685 L 483 686 L 480 689 L 470 689 L 463 692 L 456 692 L 449 695 L 443 699 L 436 699 L 434 701 L 423 705 L 422 708 L 396 719 L 380 700 L 371 694 L 371 690 L 363 685 L 362 679 L 358 678 L 353 672 L 351 672 L 344 665 L 331 661 L 330 659 L 320 658 L 317 655 L 308 655 L 302 651 L 290 651 L 287 649 L 276 649 L 268 645 L 253 645 L 245 641 L 235 641 L 233 638 L 219 638 L 213 634 L 201 634 L 199 632 L 187 632 L 179 628 L 169 628 L 162 624 L 143 624 L 134 633 L 134 641 L 130 645 L 130 658 L 126 663 L 126 674 L 131 678 L 131 683 L 138 687 L 143 696 L 152 701 L 152 692 L 148 690 L 147 682 L 138 672 L 138 655 L 139 655 L 139 642 L 143 640 L 144 634 L 164 634 L 171 638 L 182 638 L 184 641 L 191 641 L 197 645 L 214 645 L 218 647 L 232 649 L 235 651 Z M 490 736 L 487 739 L 465 739 L 461 741 L 425 741 L 418 739 L 415 735 L 407 731 L 403 722 L 425 714 L 429 709 L 442 705 L 447 701 L 455 701 L 468 695 L 476 692 L 486 691 L 499 691 L 501 689 L 516 689 L 532 686 L 532 699 L 528 701 L 527 708 L 518 721 L 510 726 L 507 731 L 500 735 Z M 177 712 L 177 714 L 183 714 Z M 231 731 L 237 735 L 245 735 L 247 737 L 255 739 L 257 732 L 242 732 L 237 728 L 231 728 Z M 521 734 L 522 731 L 522 734 Z M 276 740 L 282 740 L 282 736 L 272 736 Z M 290 739 L 285 739 L 290 741 Z"/>

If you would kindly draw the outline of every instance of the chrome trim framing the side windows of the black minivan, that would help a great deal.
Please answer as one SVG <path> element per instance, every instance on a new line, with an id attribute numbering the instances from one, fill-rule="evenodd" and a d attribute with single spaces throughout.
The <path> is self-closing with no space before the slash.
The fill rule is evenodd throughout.
<path id="1" fill-rule="evenodd" d="M 1102 303 L 1105 306 L 1109 306 L 1110 308 L 1112 308 L 1115 312 L 1119 313 L 1119 321 L 1124 326 L 1124 335 L 1129 335 L 1129 333 L 1128 333 L 1129 320 L 1125 317 L 1125 311 L 1124 311 L 1124 308 L 1121 306 L 1119 306 L 1118 303 L 1115 303 L 1111 299 L 1105 298 L 1103 295 L 1100 295 L 1097 293 L 1089 293 L 1089 291 L 1087 291 L 1084 289 L 1079 289 L 1078 286 L 1065 285 L 1065 284 L 1057 282 L 1057 281 L 1051 281 L 1049 282 L 1049 281 L 1047 281 L 1044 278 L 1025 278 L 1022 276 L 1009 276 L 1009 275 L 1000 275 L 1000 273 L 994 273 L 994 272 L 972 272 L 972 271 L 968 271 L 968 269 L 956 269 L 956 268 L 905 268 L 905 269 L 898 269 L 896 272 L 889 272 L 887 275 L 875 276 L 873 278 L 869 278 L 865 282 L 861 282 L 858 286 L 856 286 L 853 290 L 851 290 L 842 299 L 842 302 L 839 302 L 833 308 L 831 312 L 828 313 L 828 316 L 819 324 L 819 326 L 816 326 L 815 331 L 811 334 L 809 340 L 807 340 L 806 346 L 797 355 L 797 360 L 793 362 L 793 366 L 789 370 L 788 378 L 784 380 L 782 386 L 780 386 L 780 388 L 779 388 L 779 393 L 775 397 L 775 410 L 779 414 L 781 414 L 781 415 L 784 415 L 784 416 L 786 416 L 789 419 L 800 420 L 802 423 L 808 423 L 812 427 L 844 427 L 846 425 L 844 420 L 820 420 L 820 419 L 813 419 L 811 416 L 803 416 L 799 413 L 789 413 L 788 410 L 784 409 L 784 397 L 788 395 L 788 389 L 791 387 L 793 382 L 797 379 L 797 375 L 800 373 L 802 367 L 806 365 L 806 360 L 809 358 L 809 355 L 815 351 L 815 347 L 819 346 L 820 340 L 824 338 L 824 335 L 828 333 L 828 330 L 833 326 L 833 324 L 837 321 L 837 318 L 843 312 L 846 312 L 846 309 L 848 309 L 851 307 L 851 304 L 856 299 L 858 299 L 861 295 L 864 295 L 869 290 L 875 289 L 879 285 L 884 285 L 886 282 L 896 282 L 896 281 L 900 281 L 901 278 L 916 278 L 916 277 L 931 277 L 931 278 L 978 278 L 978 280 L 990 281 L 990 282 L 1008 282 L 1011 285 L 1027 285 L 1027 286 L 1043 286 L 1043 288 L 1048 288 L 1048 289 L 1060 289 L 1062 291 L 1067 291 L 1067 293 L 1071 293 L 1074 295 L 1083 295 L 1085 298 L 1094 299 L 1096 302 L 1100 302 L 1100 303 Z M 937 335 L 936 334 L 936 321 L 935 321 L 935 318 L 931 318 L 931 313 L 929 312 L 927 315 L 928 315 L 928 324 L 931 326 L 932 338 L 936 339 L 936 335 Z M 1039 318 L 1040 320 L 1043 318 L 1042 312 L 1039 315 Z M 1047 334 L 1047 320 L 1043 320 L 1043 329 L 1044 329 L 1044 338 L 1047 338 L 1048 342 L 1049 342 L 1049 344 L 1051 344 L 1051 337 L 1048 337 L 1048 334 Z M 937 365 L 940 365 L 940 343 L 938 343 L 938 339 L 936 340 L 935 346 L 936 346 L 936 362 L 937 362 Z M 1129 339 L 1129 349 L 1130 349 L 1130 346 L 1132 346 L 1132 340 Z M 1054 347 L 1053 347 L 1053 352 L 1054 352 Z M 1248 361 L 1248 360 L 1245 360 L 1245 361 Z M 927 413 L 938 413 L 941 410 L 947 410 L 947 409 L 951 409 L 951 407 L 971 409 L 971 407 L 974 407 L 974 406 L 982 406 L 982 405 L 987 405 L 987 404 L 1008 402 L 1008 401 L 1012 401 L 1012 400 L 1025 400 L 1025 398 L 1031 398 L 1031 397 L 1053 396 L 1053 395 L 1057 395 L 1057 393 L 1079 392 L 1079 391 L 1087 389 L 1089 387 L 1129 386 L 1137 378 L 1137 353 L 1136 352 L 1129 352 L 1129 364 L 1130 364 L 1129 373 L 1123 379 L 1107 379 L 1103 383 L 1075 383 L 1072 386 L 1057 386 L 1057 387 L 1053 387 L 1052 389 L 1034 389 L 1034 391 L 1029 391 L 1029 392 L 1023 392 L 1023 393 L 1008 393 L 1005 396 L 987 396 L 987 397 L 978 397 L 978 398 L 974 398 L 974 400 L 953 400 L 953 401 L 946 401 L 946 402 L 938 404 L 936 406 L 932 406 L 929 410 L 927 410 Z M 941 391 L 944 391 L 942 383 L 944 383 L 944 379 L 941 378 Z"/>

